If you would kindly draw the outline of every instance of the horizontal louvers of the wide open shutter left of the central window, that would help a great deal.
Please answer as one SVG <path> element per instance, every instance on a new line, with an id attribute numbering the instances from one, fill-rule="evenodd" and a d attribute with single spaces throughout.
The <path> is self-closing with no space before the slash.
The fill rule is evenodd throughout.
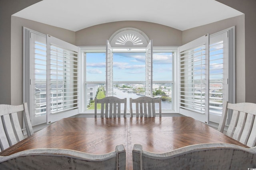
<path id="1" fill-rule="evenodd" d="M 51 44 L 51 113 L 78 108 L 78 53 Z"/>

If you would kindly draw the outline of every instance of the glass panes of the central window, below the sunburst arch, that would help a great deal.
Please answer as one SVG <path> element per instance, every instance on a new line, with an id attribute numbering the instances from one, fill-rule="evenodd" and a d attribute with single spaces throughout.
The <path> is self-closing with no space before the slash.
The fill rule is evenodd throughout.
<path id="1" fill-rule="evenodd" d="M 96 47 L 95 47 L 96 48 Z M 110 74 L 106 74 L 106 54 L 100 52 L 101 49 L 91 49 L 81 47 L 84 56 L 84 95 L 86 107 L 82 111 L 94 111 L 94 100 L 107 96 L 106 82 Z M 113 94 L 118 98 L 138 98 L 146 95 L 146 49 L 131 49 L 127 51 L 123 49 L 114 49 L 112 54 L 112 86 Z M 121 51 L 121 52 L 120 52 Z M 172 95 L 173 95 L 173 57 L 176 49 L 172 48 L 156 48 L 153 52 L 153 81 L 152 97 L 162 98 L 162 111 L 172 111 Z M 86 90 L 90 88 L 90 91 Z M 93 90 L 92 90 L 93 89 Z M 89 93 L 88 93 L 89 92 Z M 108 95 L 110 96 L 110 95 Z M 90 97 L 90 100 L 88 100 Z M 129 100 L 128 106 L 129 106 Z M 82 102 L 83 103 L 83 102 Z M 129 110 L 128 110 L 129 111 Z"/>

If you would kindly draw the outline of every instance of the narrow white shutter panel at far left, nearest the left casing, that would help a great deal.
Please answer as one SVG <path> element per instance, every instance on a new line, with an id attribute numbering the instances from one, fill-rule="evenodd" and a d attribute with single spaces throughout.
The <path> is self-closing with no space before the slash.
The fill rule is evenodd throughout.
<path id="1" fill-rule="evenodd" d="M 46 36 L 30 33 L 31 68 L 29 113 L 32 125 L 46 122 Z M 30 90 L 29 90 L 30 91 Z"/>

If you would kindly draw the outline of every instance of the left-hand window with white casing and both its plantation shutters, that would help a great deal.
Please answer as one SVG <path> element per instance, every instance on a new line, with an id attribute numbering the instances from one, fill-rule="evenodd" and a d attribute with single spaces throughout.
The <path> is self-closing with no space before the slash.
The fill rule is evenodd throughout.
<path id="1" fill-rule="evenodd" d="M 24 42 L 24 102 L 32 125 L 78 114 L 78 47 L 27 28 Z"/>

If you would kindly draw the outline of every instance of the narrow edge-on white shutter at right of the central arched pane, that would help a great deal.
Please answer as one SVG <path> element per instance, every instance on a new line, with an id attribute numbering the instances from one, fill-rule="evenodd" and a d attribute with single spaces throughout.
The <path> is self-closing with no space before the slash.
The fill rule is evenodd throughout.
<path id="1" fill-rule="evenodd" d="M 146 47 L 146 96 L 152 97 L 152 83 L 153 83 L 153 45 L 152 40 Z"/>

